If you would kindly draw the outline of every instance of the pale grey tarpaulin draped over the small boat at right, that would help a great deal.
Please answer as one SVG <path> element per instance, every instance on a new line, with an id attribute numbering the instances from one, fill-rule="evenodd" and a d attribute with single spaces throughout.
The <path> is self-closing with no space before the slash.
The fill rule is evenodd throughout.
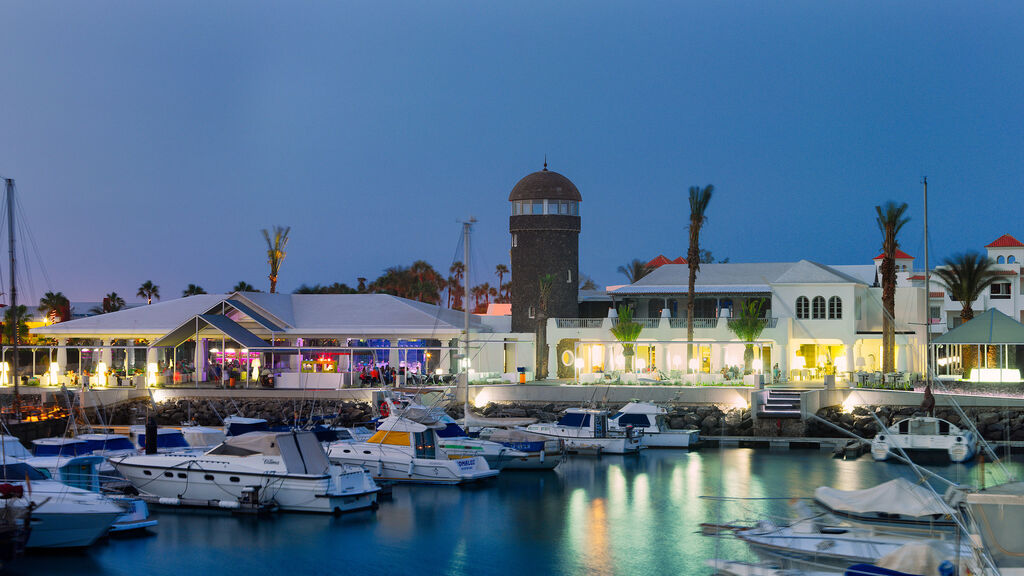
<path id="1" fill-rule="evenodd" d="M 945 516 L 949 507 L 924 486 L 898 478 L 865 490 L 837 490 L 822 486 L 814 499 L 837 511 L 866 515 L 885 512 L 906 517 Z"/>

